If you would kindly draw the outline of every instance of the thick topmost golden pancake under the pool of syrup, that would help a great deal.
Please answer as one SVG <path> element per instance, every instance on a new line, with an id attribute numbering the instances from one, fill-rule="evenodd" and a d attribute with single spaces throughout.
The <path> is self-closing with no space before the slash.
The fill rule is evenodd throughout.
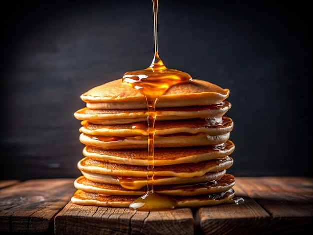
<path id="1" fill-rule="evenodd" d="M 203 80 L 171 86 L 156 102 L 156 107 L 184 107 L 193 105 L 212 105 L 224 101 L 229 90 Z M 91 109 L 138 109 L 146 108 L 143 94 L 123 83 L 113 80 L 94 87 L 81 95 L 81 99 Z"/>

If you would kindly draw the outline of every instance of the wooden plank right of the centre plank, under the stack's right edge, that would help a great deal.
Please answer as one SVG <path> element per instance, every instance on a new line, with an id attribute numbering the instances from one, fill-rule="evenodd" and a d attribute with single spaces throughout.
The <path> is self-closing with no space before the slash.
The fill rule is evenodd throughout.
<path id="1" fill-rule="evenodd" d="M 195 231 L 198 234 L 262 234 L 270 215 L 236 183 L 235 197 L 244 202 L 199 208 L 195 213 Z"/>

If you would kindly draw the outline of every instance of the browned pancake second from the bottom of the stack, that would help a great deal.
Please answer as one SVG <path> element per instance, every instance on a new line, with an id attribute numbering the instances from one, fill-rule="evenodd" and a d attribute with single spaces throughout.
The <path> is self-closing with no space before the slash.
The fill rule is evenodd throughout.
<path id="1" fill-rule="evenodd" d="M 155 185 L 154 191 L 158 194 L 168 196 L 196 196 L 225 192 L 232 188 L 234 184 L 234 177 L 230 174 L 225 174 L 217 181 L 214 180 L 192 184 Z M 74 185 L 78 190 L 105 195 L 141 196 L 147 191 L 147 184 L 145 184 L 145 187 L 140 189 L 131 190 L 123 188 L 120 185 L 93 182 L 83 176 L 76 179 Z"/>

